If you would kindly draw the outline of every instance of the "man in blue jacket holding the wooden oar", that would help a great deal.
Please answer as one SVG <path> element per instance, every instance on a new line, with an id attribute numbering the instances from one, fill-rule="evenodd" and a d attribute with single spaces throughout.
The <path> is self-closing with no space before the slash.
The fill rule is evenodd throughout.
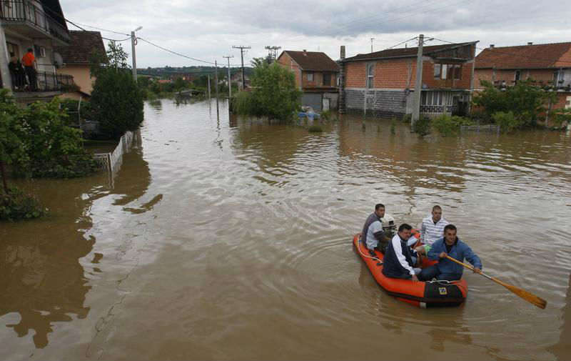
<path id="1" fill-rule="evenodd" d="M 437 239 L 427 253 L 428 259 L 439 259 L 438 263 L 423 269 L 423 272 L 420 272 L 418 277 L 420 280 L 430 281 L 434 278 L 447 281 L 460 280 L 464 267 L 446 258 L 446 254 L 458 259 L 460 262 L 464 262 L 464 259 L 468 259 L 468 262 L 474 266 L 474 272 L 481 272 L 482 262 L 480 262 L 480 257 L 477 257 L 477 255 L 472 252 L 468 244 L 465 244 L 456 237 L 456 231 L 457 229 L 454 224 L 447 224 L 446 227 L 444 227 L 444 237 Z"/>

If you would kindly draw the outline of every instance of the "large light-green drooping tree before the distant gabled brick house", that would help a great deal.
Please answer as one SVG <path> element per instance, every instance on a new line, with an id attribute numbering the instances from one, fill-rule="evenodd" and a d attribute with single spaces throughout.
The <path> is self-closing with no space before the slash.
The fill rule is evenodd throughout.
<path id="1" fill-rule="evenodd" d="M 293 72 L 277 63 L 262 61 L 254 69 L 252 91 L 239 92 L 233 99 L 233 112 L 269 119 L 290 119 L 300 109 L 301 92 Z"/>

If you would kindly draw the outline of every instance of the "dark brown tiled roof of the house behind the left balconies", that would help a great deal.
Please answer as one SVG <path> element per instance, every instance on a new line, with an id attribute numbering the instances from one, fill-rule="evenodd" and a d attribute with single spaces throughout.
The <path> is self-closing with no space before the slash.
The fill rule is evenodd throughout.
<path id="1" fill-rule="evenodd" d="M 105 46 L 99 31 L 69 31 L 69 46 L 56 46 L 54 51 L 61 54 L 67 64 L 91 64 L 91 54 L 98 51 L 106 56 Z"/>

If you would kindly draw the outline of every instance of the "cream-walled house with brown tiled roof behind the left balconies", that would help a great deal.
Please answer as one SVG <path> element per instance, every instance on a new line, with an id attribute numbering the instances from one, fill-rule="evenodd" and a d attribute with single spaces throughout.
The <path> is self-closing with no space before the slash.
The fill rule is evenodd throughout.
<path id="1" fill-rule="evenodd" d="M 54 51 L 61 55 L 64 64 L 60 64 L 59 74 L 74 76 L 74 81 L 79 86 L 79 92 L 68 92 L 62 97 L 79 99 L 91 97 L 94 89 L 95 78 L 91 76 L 91 59 L 94 53 L 102 56 L 106 61 L 107 55 L 101 33 L 99 31 L 69 31 L 69 45 L 56 46 Z"/>

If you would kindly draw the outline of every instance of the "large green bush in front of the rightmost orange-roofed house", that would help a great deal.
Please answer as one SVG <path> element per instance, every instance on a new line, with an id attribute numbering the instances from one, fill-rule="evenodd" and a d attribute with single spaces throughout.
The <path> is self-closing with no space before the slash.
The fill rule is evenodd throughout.
<path id="1" fill-rule="evenodd" d="M 497 122 L 504 132 L 535 126 L 537 116 L 547 110 L 545 104 L 554 101 L 556 94 L 545 92 L 534 83 L 532 79 L 518 81 L 514 86 L 500 90 L 489 81 L 482 81 L 484 90 L 473 99 L 473 104 L 480 107 L 488 119 Z"/>

